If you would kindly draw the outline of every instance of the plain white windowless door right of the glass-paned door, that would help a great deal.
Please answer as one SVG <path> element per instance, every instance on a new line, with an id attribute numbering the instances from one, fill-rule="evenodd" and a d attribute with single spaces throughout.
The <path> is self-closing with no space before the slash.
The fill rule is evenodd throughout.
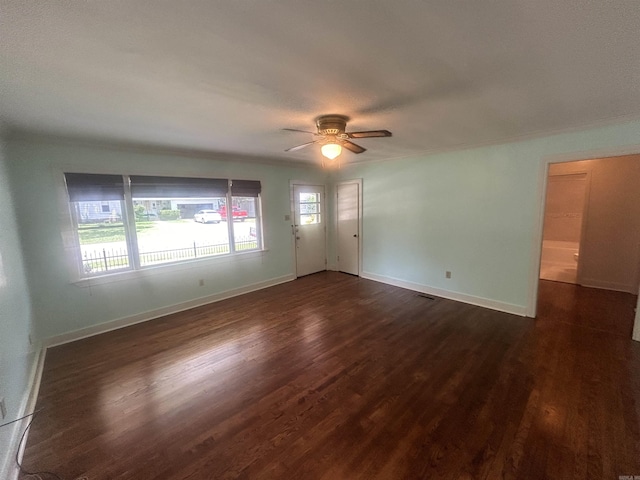
<path id="1" fill-rule="evenodd" d="M 360 274 L 360 185 L 341 183 L 336 188 L 338 206 L 338 270 Z"/>

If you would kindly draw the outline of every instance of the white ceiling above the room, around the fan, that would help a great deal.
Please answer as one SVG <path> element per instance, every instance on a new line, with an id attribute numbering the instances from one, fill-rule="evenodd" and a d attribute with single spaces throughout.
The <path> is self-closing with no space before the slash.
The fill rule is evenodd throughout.
<path id="1" fill-rule="evenodd" d="M 640 117 L 638 0 L 0 0 L 7 130 L 343 161 Z"/>

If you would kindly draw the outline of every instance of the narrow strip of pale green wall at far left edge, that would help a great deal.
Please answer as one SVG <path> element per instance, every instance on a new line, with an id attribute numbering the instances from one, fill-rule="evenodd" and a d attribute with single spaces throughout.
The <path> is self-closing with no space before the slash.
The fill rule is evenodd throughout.
<path id="1" fill-rule="evenodd" d="M 0 398 L 7 417 L 0 424 L 22 416 L 29 393 L 29 377 L 35 354 L 29 344 L 32 315 L 23 250 L 16 222 L 16 203 L 8 182 L 4 148 L 0 143 Z M 0 428 L 0 478 L 13 465 L 19 423 Z"/>

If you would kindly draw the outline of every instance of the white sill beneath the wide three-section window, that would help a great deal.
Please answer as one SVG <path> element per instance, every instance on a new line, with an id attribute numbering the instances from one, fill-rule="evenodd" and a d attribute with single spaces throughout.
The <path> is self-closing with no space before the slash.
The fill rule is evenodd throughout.
<path id="1" fill-rule="evenodd" d="M 231 263 L 238 260 L 251 260 L 255 258 L 262 258 L 269 249 L 251 250 L 248 252 L 237 252 L 220 256 L 211 256 L 207 258 L 199 258 L 193 260 L 187 260 L 182 262 L 165 263 L 162 265 L 154 265 L 149 267 L 142 267 L 139 270 L 124 270 L 121 272 L 106 273 L 104 275 L 96 275 L 95 277 L 85 277 L 77 280 L 73 280 L 71 284 L 78 287 L 91 287 L 95 285 L 102 285 L 107 283 L 122 282 L 127 280 L 135 280 L 144 277 L 150 277 L 154 275 L 162 275 L 171 272 L 177 272 L 181 270 L 191 270 L 193 268 L 205 268 L 210 265 L 220 265 L 224 263 Z"/>

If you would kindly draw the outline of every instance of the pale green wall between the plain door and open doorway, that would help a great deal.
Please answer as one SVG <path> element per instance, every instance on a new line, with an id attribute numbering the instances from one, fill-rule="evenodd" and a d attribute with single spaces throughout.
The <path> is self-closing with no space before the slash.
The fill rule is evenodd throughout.
<path id="1" fill-rule="evenodd" d="M 630 122 L 357 164 L 343 167 L 333 178 L 363 179 L 365 276 L 525 313 L 537 277 L 531 259 L 539 249 L 545 162 L 639 144 L 640 122 Z M 447 270 L 451 279 L 445 278 Z"/>

